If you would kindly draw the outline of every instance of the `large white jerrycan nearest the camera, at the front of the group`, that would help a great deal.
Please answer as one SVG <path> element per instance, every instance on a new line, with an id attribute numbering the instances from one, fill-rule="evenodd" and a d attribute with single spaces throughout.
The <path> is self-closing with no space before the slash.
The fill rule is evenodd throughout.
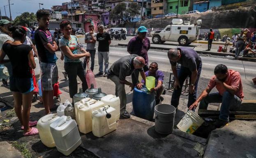
<path id="1" fill-rule="evenodd" d="M 81 144 L 76 121 L 70 116 L 62 116 L 55 120 L 50 129 L 57 150 L 66 156 Z"/>

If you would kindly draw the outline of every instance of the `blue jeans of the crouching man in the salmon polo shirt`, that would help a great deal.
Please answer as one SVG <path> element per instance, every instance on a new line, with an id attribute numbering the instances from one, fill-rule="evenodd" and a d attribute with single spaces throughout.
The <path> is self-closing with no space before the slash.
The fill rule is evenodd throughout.
<path id="1" fill-rule="evenodd" d="M 229 110 L 236 110 L 242 103 L 238 96 L 232 95 L 228 91 L 223 96 L 219 92 L 210 93 L 200 101 L 199 109 L 207 109 L 209 103 L 221 103 L 219 119 L 228 121 Z"/>

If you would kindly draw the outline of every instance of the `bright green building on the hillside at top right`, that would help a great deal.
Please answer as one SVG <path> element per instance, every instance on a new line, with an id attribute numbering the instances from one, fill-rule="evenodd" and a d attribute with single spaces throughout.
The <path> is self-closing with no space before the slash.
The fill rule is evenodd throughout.
<path id="1" fill-rule="evenodd" d="M 178 5 L 178 2 L 179 2 L 179 5 Z M 167 0 L 168 13 L 177 13 L 177 9 L 178 9 L 178 14 L 186 14 L 186 12 L 192 11 L 193 0 Z"/>

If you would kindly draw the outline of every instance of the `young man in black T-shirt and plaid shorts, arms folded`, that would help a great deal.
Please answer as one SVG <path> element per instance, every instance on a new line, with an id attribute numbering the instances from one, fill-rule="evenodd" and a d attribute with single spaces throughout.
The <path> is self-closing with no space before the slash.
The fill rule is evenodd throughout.
<path id="1" fill-rule="evenodd" d="M 53 85 L 58 82 L 58 60 L 55 51 L 58 45 L 48 31 L 50 12 L 45 9 L 37 11 L 37 21 L 39 28 L 35 32 L 35 43 L 40 58 L 40 68 L 42 71 L 42 94 L 45 114 L 51 113 L 50 107 L 53 106 Z"/>

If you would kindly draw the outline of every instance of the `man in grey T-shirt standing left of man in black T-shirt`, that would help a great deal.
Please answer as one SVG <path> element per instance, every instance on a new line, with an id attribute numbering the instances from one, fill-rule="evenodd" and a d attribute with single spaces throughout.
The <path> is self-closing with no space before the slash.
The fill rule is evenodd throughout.
<path id="1" fill-rule="evenodd" d="M 89 25 L 89 32 L 85 33 L 85 43 L 86 51 L 90 53 L 91 55 L 91 67 L 90 69 L 93 71 L 94 69 L 94 59 L 95 59 L 95 53 L 96 53 L 96 36 L 97 33 L 94 32 L 94 26 Z M 86 69 L 87 61 L 83 61 L 83 68 Z"/>

